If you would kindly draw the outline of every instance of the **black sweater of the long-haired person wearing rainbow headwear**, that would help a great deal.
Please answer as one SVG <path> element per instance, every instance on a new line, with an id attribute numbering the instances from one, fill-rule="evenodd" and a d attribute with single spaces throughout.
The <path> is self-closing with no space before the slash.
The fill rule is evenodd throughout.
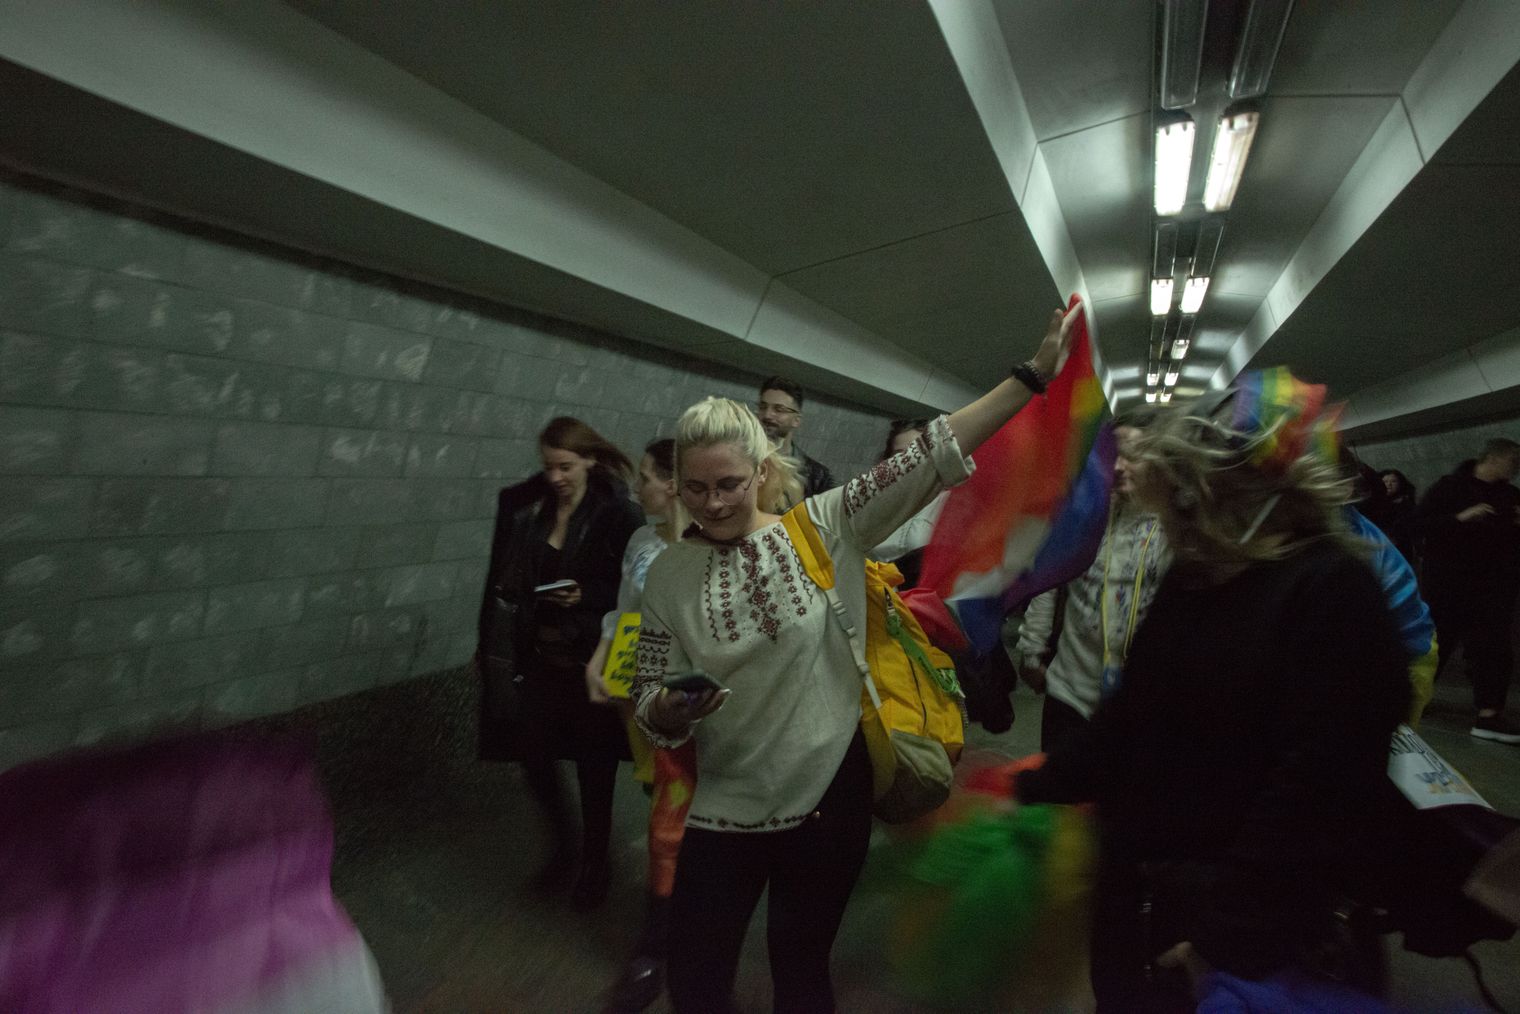
<path id="1" fill-rule="evenodd" d="M 1408 701 L 1383 590 L 1342 546 L 1207 587 L 1173 567 L 1117 693 L 1018 795 L 1096 801 L 1105 867 L 1192 885 L 1178 940 L 1259 978 L 1295 961 L 1347 863 L 1368 862 Z"/>

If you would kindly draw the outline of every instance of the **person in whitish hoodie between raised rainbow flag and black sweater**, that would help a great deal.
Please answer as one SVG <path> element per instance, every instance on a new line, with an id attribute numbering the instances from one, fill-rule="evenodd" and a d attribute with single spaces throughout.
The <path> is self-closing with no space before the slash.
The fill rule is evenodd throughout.
<path id="1" fill-rule="evenodd" d="M 1114 418 L 1119 458 L 1108 529 L 1087 570 L 1061 588 L 1035 596 L 1018 631 L 1018 672 L 1046 695 L 1040 719 L 1040 748 L 1050 751 L 1093 718 L 1099 702 L 1119 686 L 1125 658 L 1146 608 L 1161 587 L 1172 561 L 1161 526 L 1137 506 L 1142 468 L 1126 455 L 1154 412 L 1134 409 Z M 1062 608 L 1055 654 L 1050 639 L 1056 610 Z"/>

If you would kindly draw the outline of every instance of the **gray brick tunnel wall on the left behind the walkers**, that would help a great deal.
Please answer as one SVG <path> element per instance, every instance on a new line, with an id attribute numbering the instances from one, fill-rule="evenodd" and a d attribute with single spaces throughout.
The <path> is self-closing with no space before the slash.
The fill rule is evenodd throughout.
<path id="1" fill-rule="evenodd" d="M 757 380 L 0 173 L 0 768 L 462 663 L 544 423 L 632 456 Z"/>

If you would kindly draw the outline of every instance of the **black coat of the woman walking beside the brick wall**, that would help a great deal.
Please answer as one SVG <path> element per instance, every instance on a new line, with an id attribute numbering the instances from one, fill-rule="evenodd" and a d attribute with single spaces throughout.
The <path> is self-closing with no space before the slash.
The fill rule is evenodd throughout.
<path id="1" fill-rule="evenodd" d="M 600 468 L 593 470 L 585 497 L 570 515 L 559 566 L 546 573 L 544 547 L 555 524 L 553 490 L 543 476 L 502 490 L 491 570 L 480 602 L 482 757 L 512 759 L 512 725 L 521 718 L 521 680 L 550 666 L 576 667 L 596 651 L 602 616 L 617 605 L 628 537 L 641 523 L 643 514 L 628 499 L 626 486 Z M 581 602 L 568 608 L 541 605 L 534 587 L 559 578 L 572 578 L 581 585 Z M 553 645 L 553 658 L 541 649 L 546 640 Z M 579 681 L 567 686 L 579 689 Z"/>

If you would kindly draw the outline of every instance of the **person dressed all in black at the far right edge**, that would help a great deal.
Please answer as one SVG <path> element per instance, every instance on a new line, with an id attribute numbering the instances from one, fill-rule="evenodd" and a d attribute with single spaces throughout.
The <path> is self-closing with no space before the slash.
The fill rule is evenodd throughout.
<path id="1" fill-rule="evenodd" d="M 1476 711 L 1468 731 L 1500 743 L 1520 743 L 1520 725 L 1505 719 L 1514 669 L 1511 629 L 1520 591 L 1517 471 L 1520 444 L 1488 441 L 1476 462 L 1464 462 L 1438 479 L 1415 514 L 1424 537 L 1421 584 L 1441 660 L 1462 645 Z"/>

